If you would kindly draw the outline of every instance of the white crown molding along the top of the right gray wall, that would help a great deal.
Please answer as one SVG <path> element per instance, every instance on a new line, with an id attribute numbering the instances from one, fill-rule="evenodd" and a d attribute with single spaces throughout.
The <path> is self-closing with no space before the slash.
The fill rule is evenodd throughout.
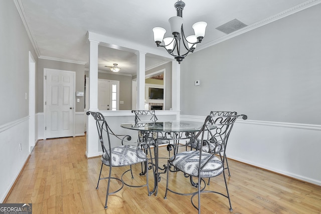
<path id="1" fill-rule="evenodd" d="M 212 42 L 206 43 L 203 46 L 200 46 L 199 48 L 197 48 L 194 52 L 197 52 L 197 51 L 203 50 L 205 48 L 211 47 L 213 45 L 216 45 L 218 43 L 224 42 L 224 41 L 226 41 L 228 39 L 231 39 L 233 37 L 239 36 L 239 35 L 244 34 L 246 32 L 252 31 L 254 29 L 257 29 L 257 28 L 262 27 L 264 25 L 267 25 L 269 23 L 275 22 L 277 20 L 280 20 L 282 18 L 285 18 L 287 16 L 290 16 L 292 14 L 295 14 L 297 12 L 305 10 L 307 8 L 310 8 L 310 7 L 313 7 L 315 5 L 318 5 L 320 3 L 321 3 L 321 0 L 309 0 L 309 1 L 306 1 L 306 2 L 304 2 L 302 4 L 299 4 L 299 5 L 297 5 L 297 6 L 293 7 L 293 8 L 287 9 L 287 10 L 281 12 L 281 13 L 278 13 L 278 14 L 276 14 L 274 16 L 271 16 L 271 17 L 269 17 L 267 19 L 261 20 L 261 21 L 259 21 L 257 23 L 249 25 L 249 26 L 247 26 L 245 28 L 242 28 L 242 29 L 240 29 L 238 31 L 235 31 L 235 32 L 233 32 L 231 34 L 223 36 L 223 37 L 221 37 L 221 38 L 219 38 L 217 40 L 214 40 Z"/>

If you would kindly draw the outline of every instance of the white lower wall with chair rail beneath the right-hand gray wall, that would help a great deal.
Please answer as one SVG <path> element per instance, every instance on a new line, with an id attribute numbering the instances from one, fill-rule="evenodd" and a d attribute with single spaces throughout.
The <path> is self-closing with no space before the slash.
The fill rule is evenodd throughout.
<path id="1" fill-rule="evenodd" d="M 181 120 L 204 121 L 181 115 Z M 229 137 L 228 158 L 321 186 L 321 125 L 237 120 Z M 302 150 L 308 152 L 308 158 Z M 305 153 L 304 152 L 304 153 Z M 313 166 L 313 167 L 307 167 Z"/>

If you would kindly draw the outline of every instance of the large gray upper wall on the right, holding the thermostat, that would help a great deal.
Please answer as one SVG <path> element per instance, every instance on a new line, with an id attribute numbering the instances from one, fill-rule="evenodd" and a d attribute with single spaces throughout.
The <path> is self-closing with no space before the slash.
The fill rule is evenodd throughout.
<path id="1" fill-rule="evenodd" d="M 251 120 L 321 124 L 320 11 L 316 5 L 189 55 L 181 114 L 233 110 Z"/>

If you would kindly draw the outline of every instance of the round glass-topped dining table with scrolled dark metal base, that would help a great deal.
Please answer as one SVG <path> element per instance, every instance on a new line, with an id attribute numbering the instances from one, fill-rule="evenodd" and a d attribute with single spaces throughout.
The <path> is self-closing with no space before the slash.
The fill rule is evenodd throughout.
<path id="1" fill-rule="evenodd" d="M 167 168 L 159 167 L 158 161 L 158 142 L 159 140 L 170 140 L 179 143 L 180 140 L 192 138 L 196 132 L 202 129 L 204 122 L 172 120 L 172 121 L 138 121 L 122 123 L 120 126 L 125 129 L 136 130 L 141 136 L 153 139 L 154 146 L 154 187 L 149 195 L 157 195 L 158 182 L 161 180 L 161 173 L 165 173 Z M 213 127 L 214 128 L 214 127 Z M 159 172 L 158 169 L 163 172 Z"/>

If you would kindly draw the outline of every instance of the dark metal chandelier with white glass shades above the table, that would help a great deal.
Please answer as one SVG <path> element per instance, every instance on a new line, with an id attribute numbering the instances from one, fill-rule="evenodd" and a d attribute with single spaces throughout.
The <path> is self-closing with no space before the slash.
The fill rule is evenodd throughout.
<path id="1" fill-rule="evenodd" d="M 172 55 L 176 61 L 181 64 L 183 59 L 191 52 L 193 53 L 196 44 L 201 43 L 204 36 L 205 36 L 205 29 L 207 26 L 206 22 L 197 22 L 195 23 L 192 28 L 194 29 L 195 35 L 191 35 L 185 37 L 184 30 L 183 30 L 183 9 L 185 7 L 185 3 L 182 0 L 179 0 L 175 3 L 174 7 L 177 11 L 176 17 L 171 17 L 169 19 L 171 25 L 171 31 L 174 37 L 167 37 L 164 38 L 166 30 L 161 27 L 155 27 L 152 29 L 154 33 L 154 41 L 157 47 L 164 47 L 167 52 Z M 163 39 L 164 38 L 164 39 Z M 164 45 L 161 43 L 164 40 Z M 182 46 L 181 46 L 182 41 Z M 183 48 L 181 48 L 183 47 Z M 185 49 L 184 49 L 185 48 Z M 182 50 L 183 49 L 183 50 Z M 182 53 L 186 51 L 186 53 Z"/>

